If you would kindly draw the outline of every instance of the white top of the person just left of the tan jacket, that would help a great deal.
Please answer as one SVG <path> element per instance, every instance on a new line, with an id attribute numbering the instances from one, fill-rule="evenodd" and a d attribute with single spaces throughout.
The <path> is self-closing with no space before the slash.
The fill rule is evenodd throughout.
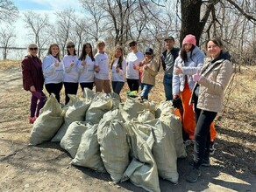
<path id="1" fill-rule="evenodd" d="M 126 78 L 127 79 L 139 79 L 139 71 L 133 69 L 133 65 L 139 66 L 139 63 L 143 61 L 144 54 L 140 51 L 133 53 L 130 52 L 127 55 L 126 63 L 127 63 L 127 69 L 126 69 Z"/>

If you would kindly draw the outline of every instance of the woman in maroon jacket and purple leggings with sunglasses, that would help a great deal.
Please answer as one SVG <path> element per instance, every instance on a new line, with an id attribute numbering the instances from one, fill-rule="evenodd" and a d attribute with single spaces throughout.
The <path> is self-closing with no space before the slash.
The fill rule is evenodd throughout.
<path id="1" fill-rule="evenodd" d="M 46 95 L 42 91 L 44 75 L 42 62 L 37 56 L 38 50 L 38 45 L 29 45 L 28 55 L 21 62 L 23 87 L 25 91 L 32 93 L 29 123 L 33 123 L 37 119 L 40 109 L 46 103 Z"/>

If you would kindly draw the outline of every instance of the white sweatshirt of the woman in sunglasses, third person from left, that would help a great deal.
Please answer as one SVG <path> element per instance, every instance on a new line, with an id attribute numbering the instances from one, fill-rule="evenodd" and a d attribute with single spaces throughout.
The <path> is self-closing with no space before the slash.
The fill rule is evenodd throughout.
<path id="1" fill-rule="evenodd" d="M 74 61 L 75 65 L 70 66 L 70 64 Z M 79 73 L 77 70 L 77 61 L 78 58 L 76 55 L 65 55 L 62 59 L 62 63 L 64 65 L 64 74 L 63 74 L 63 82 L 67 83 L 77 83 Z"/>

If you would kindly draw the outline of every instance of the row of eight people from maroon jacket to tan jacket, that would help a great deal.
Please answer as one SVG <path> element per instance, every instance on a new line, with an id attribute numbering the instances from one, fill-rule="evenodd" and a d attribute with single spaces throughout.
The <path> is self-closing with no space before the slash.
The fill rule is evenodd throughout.
<path id="1" fill-rule="evenodd" d="M 124 58 L 124 49 L 118 46 L 113 56 L 104 51 L 105 43 L 96 43 L 96 54 L 93 54 L 92 45 L 84 43 L 80 57 L 76 55 L 75 44 L 68 40 L 67 54 L 60 58 L 60 47 L 51 44 L 43 62 L 38 58 L 38 46 L 28 46 L 29 54 L 22 61 L 23 83 L 26 91 L 32 93 L 31 117 L 33 123 L 39 116 L 39 110 L 46 102 L 43 86 L 49 94 L 54 94 L 60 102 L 60 90 L 65 88 L 65 105 L 68 104 L 68 94 L 76 94 L 79 85 L 82 91 L 85 87 L 93 89 L 96 93 L 110 93 L 111 86 L 114 93 L 121 92 L 124 82 L 130 91 L 139 91 L 141 86 L 141 99 L 148 99 L 148 93 L 155 85 L 155 76 L 158 73 L 158 64 L 153 59 L 153 49 L 147 48 L 145 54 L 138 51 L 136 41 L 129 43 L 131 52 Z M 110 80 L 111 79 L 111 80 Z M 111 82 L 111 86 L 110 86 Z M 38 99 L 40 102 L 38 103 Z"/>

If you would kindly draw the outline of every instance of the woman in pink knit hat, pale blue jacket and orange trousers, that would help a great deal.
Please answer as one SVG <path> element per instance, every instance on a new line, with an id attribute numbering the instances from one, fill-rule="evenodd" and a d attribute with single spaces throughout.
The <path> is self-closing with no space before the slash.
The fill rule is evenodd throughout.
<path id="1" fill-rule="evenodd" d="M 193 105 L 189 104 L 191 92 L 195 86 L 192 75 L 196 74 L 198 70 L 201 70 L 204 57 L 203 51 L 196 45 L 196 37 L 188 34 L 183 39 L 180 54 L 174 62 L 173 97 L 182 101 L 183 114 L 181 114 L 181 120 L 185 132 L 183 139 L 188 141 L 194 141 L 196 128 Z M 217 135 L 213 123 L 210 126 L 210 130 L 211 141 L 213 141 Z"/>

